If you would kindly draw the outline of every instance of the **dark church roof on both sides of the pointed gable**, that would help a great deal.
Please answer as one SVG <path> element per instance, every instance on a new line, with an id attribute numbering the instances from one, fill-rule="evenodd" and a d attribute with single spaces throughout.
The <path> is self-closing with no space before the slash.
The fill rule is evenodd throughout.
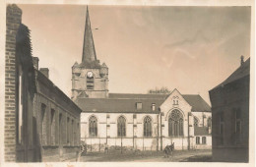
<path id="1" fill-rule="evenodd" d="M 109 93 L 108 98 L 78 98 L 76 103 L 84 112 L 109 113 L 159 113 L 160 105 L 167 98 L 167 94 L 133 94 Z M 211 107 L 200 95 L 183 95 L 192 106 L 192 111 L 211 112 Z M 142 109 L 136 109 L 136 103 L 142 102 Z M 155 111 L 152 104 L 156 104 Z"/>

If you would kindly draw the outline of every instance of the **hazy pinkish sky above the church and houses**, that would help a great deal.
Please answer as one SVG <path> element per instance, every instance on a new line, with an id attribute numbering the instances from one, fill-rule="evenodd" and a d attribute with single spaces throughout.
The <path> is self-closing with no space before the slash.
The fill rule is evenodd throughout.
<path id="1" fill-rule="evenodd" d="M 18 5 L 31 29 L 32 55 L 71 96 L 71 67 L 81 63 L 85 5 Z M 177 88 L 200 94 L 250 57 L 250 7 L 89 6 L 96 57 L 109 68 L 109 92 Z"/>

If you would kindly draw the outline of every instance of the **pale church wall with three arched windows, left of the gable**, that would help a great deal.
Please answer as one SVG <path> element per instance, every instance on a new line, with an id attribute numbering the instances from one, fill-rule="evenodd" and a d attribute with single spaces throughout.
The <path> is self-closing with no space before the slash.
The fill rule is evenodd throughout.
<path id="1" fill-rule="evenodd" d="M 92 151 L 104 144 L 156 150 L 158 114 L 82 113 L 81 130 L 81 139 L 95 145 Z"/>

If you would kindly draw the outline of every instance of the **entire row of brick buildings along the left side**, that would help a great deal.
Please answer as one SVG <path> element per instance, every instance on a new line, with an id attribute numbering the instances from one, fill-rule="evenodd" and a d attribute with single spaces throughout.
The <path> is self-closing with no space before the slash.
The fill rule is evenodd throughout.
<path id="1" fill-rule="evenodd" d="M 77 158 L 81 109 L 48 79 L 47 68 L 38 70 L 18 6 L 8 5 L 6 23 L 5 161 Z"/>

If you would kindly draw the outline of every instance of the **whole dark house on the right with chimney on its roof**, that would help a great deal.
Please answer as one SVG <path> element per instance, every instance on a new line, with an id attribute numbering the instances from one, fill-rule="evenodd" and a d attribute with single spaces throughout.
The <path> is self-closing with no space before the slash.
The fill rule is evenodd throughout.
<path id="1" fill-rule="evenodd" d="M 250 58 L 209 91 L 213 111 L 213 160 L 248 162 Z"/>

